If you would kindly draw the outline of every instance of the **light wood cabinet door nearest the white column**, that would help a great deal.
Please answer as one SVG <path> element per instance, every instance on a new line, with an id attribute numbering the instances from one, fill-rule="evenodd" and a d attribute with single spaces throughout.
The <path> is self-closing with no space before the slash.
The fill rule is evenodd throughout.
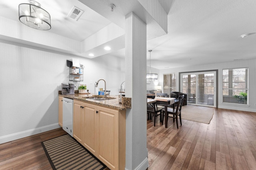
<path id="1" fill-rule="evenodd" d="M 97 107 L 99 158 L 112 170 L 119 169 L 119 111 Z"/>

